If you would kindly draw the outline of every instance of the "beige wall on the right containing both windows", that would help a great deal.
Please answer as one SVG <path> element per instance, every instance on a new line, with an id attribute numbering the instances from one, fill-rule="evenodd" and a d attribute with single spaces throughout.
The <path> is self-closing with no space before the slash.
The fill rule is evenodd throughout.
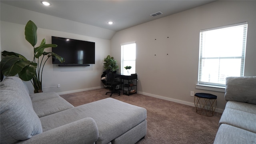
<path id="1" fill-rule="evenodd" d="M 245 21 L 245 76 L 256 76 L 256 1 L 216 1 L 119 31 L 111 39 L 111 56 L 120 64 L 120 44 L 136 41 L 138 92 L 191 106 L 190 91 L 211 93 L 218 96 L 217 111 L 221 112 L 226 104 L 224 92 L 195 88 L 199 32 Z"/>

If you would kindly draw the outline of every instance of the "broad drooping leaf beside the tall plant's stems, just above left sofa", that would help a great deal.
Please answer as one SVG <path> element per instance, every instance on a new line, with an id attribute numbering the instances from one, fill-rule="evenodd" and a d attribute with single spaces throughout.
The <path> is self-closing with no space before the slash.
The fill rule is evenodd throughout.
<path id="1" fill-rule="evenodd" d="M 24 81 L 31 80 L 36 74 L 36 68 L 37 68 L 37 64 L 34 62 L 30 62 L 28 66 L 23 68 L 22 71 L 18 73 L 20 79 Z"/>

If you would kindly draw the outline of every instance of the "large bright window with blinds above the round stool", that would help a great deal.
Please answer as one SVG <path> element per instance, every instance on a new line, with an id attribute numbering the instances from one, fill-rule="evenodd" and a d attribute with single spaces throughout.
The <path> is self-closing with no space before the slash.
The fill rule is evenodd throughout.
<path id="1" fill-rule="evenodd" d="M 244 76 L 247 22 L 200 31 L 198 84 L 225 86 Z"/>

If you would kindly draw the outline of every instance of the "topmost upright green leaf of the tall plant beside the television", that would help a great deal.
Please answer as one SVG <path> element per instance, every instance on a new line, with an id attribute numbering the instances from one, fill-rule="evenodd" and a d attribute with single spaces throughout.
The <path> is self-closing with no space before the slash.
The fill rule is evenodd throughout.
<path id="1" fill-rule="evenodd" d="M 37 43 L 37 26 L 31 20 L 25 26 L 25 38 L 34 47 Z"/>

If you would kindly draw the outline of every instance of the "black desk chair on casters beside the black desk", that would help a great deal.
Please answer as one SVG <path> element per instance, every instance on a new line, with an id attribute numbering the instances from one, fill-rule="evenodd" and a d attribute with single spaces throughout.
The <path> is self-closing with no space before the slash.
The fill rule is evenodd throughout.
<path id="1" fill-rule="evenodd" d="M 118 79 L 120 78 L 115 78 L 114 73 L 110 70 L 106 70 L 105 72 L 107 74 L 107 79 L 108 79 L 108 81 L 106 81 L 106 85 L 109 86 L 109 90 L 110 90 L 110 92 L 106 92 L 106 94 L 111 93 L 110 96 L 112 96 L 113 93 L 117 93 L 118 96 L 120 96 L 120 91 L 116 90 L 116 86 L 122 84 L 121 81 L 118 81 Z"/>

